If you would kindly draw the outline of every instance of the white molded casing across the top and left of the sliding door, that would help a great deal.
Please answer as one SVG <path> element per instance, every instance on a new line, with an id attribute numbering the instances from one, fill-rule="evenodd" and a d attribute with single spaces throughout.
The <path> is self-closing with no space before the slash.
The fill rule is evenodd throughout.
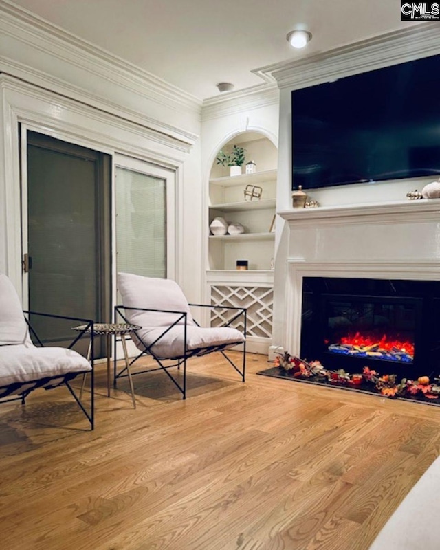
<path id="1" fill-rule="evenodd" d="M 3 119 L 0 131 L 0 164 L 3 167 L 0 173 L 0 208 L 3 208 L 4 228 L 3 240 L 0 241 L 0 272 L 8 274 L 23 298 L 19 122 L 28 129 L 56 139 L 111 155 L 120 153 L 137 157 L 177 173 L 190 146 L 9 76 L 0 76 L 0 89 L 0 115 Z M 182 185 L 181 179 L 179 185 Z M 183 205 L 178 203 L 179 225 L 182 209 Z M 181 251 L 177 250 L 176 254 L 179 256 Z"/>

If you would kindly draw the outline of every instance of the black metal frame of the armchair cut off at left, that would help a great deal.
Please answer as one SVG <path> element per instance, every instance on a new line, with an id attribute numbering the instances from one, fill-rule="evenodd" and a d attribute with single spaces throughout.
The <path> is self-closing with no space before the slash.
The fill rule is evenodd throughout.
<path id="1" fill-rule="evenodd" d="M 21 404 L 25 404 L 25 399 L 28 397 L 28 395 L 38 389 L 42 386 L 45 386 L 45 389 L 50 390 L 53 388 L 57 388 L 58 386 L 61 386 L 65 384 L 67 386 L 69 392 L 74 397 L 76 403 L 80 407 L 80 409 L 83 411 L 85 416 L 87 417 L 88 421 L 90 422 L 91 430 L 94 430 L 95 428 L 95 397 L 94 397 L 94 386 L 95 386 L 95 373 L 94 373 L 94 321 L 90 319 L 83 319 L 78 317 L 66 317 L 62 315 L 52 315 L 52 314 L 42 314 L 37 311 L 26 311 L 23 309 L 23 314 L 25 314 L 25 321 L 28 324 L 29 332 L 31 336 L 34 336 L 36 342 L 38 342 L 39 347 L 52 347 L 52 346 L 45 346 L 43 342 L 41 342 L 41 339 L 39 338 L 38 334 L 36 333 L 34 327 L 32 327 L 30 320 L 28 316 L 30 315 L 38 315 L 43 317 L 50 317 L 50 318 L 56 318 L 56 319 L 65 319 L 65 320 L 71 320 L 71 321 L 79 321 L 83 323 L 87 323 L 85 325 L 85 328 L 78 333 L 78 336 L 72 340 L 72 342 L 69 344 L 67 349 L 73 349 L 74 345 L 80 338 L 83 338 L 83 336 L 90 338 L 89 343 L 89 350 L 90 353 L 90 364 L 91 364 L 91 371 L 78 371 L 75 373 L 67 373 L 65 375 L 54 375 L 54 376 L 45 376 L 43 378 L 39 378 L 37 380 L 28 380 L 27 382 L 17 382 L 14 384 L 10 384 L 9 386 L 1 386 L 0 393 L 4 391 L 4 393 L 1 395 L 0 398 L 0 404 L 1 403 L 8 403 L 10 401 L 21 401 Z M 87 333 L 87 330 L 90 329 L 90 333 Z M 76 395 L 76 392 L 74 388 L 72 388 L 71 384 L 69 382 L 71 380 L 74 380 L 79 375 L 84 375 L 90 373 L 91 379 L 90 379 L 90 412 L 87 411 L 85 406 L 83 406 L 83 403 L 81 402 L 80 397 Z M 62 378 L 62 380 L 60 380 Z M 53 385 L 46 385 L 47 382 L 50 382 L 50 380 L 57 380 L 56 384 Z M 9 399 L 3 399 L 3 397 L 8 397 L 12 392 L 16 391 L 20 386 L 28 386 L 29 384 L 34 384 L 32 388 L 27 388 L 23 391 L 23 393 L 16 394 L 14 393 L 14 397 L 10 397 Z"/>

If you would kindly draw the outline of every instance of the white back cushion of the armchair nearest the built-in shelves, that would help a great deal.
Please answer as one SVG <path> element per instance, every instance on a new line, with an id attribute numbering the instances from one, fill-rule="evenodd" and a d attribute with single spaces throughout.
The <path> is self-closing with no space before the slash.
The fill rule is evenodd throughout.
<path id="1" fill-rule="evenodd" d="M 188 325 L 195 325 L 184 293 L 179 285 L 171 279 L 118 273 L 118 290 L 125 308 L 144 307 L 181 311 L 188 314 Z M 132 325 L 140 325 L 141 327 L 169 327 L 179 318 L 177 314 L 154 311 L 126 309 L 125 312 L 126 318 Z M 181 319 L 178 324 L 184 325 L 184 322 L 184 319 Z"/>

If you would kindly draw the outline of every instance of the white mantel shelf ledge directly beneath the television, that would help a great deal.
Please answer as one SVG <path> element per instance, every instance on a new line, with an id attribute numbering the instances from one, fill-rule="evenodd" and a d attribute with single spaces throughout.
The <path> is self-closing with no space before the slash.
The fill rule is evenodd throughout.
<path id="1" fill-rule="evenodd" d="M 383 203 L 318 206 L 277 212 L 295 227 L 337 225 L 341 223 L 440 222 L 440 199 L 419 199 Z"/>

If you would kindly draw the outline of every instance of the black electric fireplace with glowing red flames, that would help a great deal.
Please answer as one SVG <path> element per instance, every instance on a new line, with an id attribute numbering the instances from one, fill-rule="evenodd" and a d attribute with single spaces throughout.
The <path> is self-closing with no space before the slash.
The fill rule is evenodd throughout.
<path id="1" fill-rule="evenodd" d="M 304 277 L 300 356 L 328 369 L 438 375 L 440 282 Z"/>

